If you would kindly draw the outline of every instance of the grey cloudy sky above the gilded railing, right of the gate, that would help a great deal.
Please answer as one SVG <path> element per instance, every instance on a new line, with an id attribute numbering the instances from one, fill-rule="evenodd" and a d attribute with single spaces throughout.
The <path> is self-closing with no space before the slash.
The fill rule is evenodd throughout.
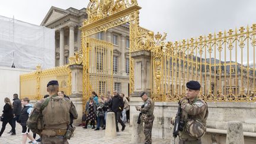
<path id="1" fill-rule="evenodd" d="M 252 0 L 147 0 L 139 4 L 142 27 L 166 32 L 171 41 L 256 23 L 256 1 Z"/>

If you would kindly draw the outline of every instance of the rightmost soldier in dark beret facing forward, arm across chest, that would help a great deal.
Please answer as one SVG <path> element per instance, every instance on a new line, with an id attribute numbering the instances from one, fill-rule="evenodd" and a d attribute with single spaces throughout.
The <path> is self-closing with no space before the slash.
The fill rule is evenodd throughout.
<path id="1" fill-rule="evenodd" d="M 206 132 L 208 109 L 207 104 L 197 97 L 200 87 L 197 81 L 187 82 L 186 96 L 180 101 L 181 121 L 185 122 L 185 126 L 179 134 L 179 144 L 201 144 L 200 137 Z M 175 123 L 175 117 L 171 123 Z"/>

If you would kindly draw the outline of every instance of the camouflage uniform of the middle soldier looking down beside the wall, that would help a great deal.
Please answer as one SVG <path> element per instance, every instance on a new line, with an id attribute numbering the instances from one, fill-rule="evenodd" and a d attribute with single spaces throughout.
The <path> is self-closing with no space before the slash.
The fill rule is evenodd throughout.
<path id="1" fill-rule="evenodd" d="M 144 122 L 144 134 L 145 134 L 145 144 L 152 143 L 151 135 L 152 135 L 152 127 L 153 127 L 153 120 L 155 116 L 153 115 L 153 110 L 155 108 L 154 102 L 151 98 L 145 101 L 144 107 L 140 109 L 142 114 L 146 114 L 146 121 Z"/>

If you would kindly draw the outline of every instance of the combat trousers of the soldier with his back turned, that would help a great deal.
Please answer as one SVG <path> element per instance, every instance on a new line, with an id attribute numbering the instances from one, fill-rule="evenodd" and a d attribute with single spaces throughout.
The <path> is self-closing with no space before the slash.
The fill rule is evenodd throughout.
<path id="1" fill-rule="evenodd" d="M 42 139 L 41 139 L 41 142 L 43 144 L 69 144 L 68 143 L 68 140 L 65 139 L 63 136 L 46 136 L 46 135 L 43 135 L 42 136 Z"/>

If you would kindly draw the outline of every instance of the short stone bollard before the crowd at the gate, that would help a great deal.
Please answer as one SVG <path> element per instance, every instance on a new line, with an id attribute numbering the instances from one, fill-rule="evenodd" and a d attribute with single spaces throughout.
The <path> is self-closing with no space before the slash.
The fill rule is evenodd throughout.
<path id="1" fill-rule="evenodd" d="M 105 137 L 116 137 L 116 116 L 114 112 L 108 112 L 106 118 Z"/>

